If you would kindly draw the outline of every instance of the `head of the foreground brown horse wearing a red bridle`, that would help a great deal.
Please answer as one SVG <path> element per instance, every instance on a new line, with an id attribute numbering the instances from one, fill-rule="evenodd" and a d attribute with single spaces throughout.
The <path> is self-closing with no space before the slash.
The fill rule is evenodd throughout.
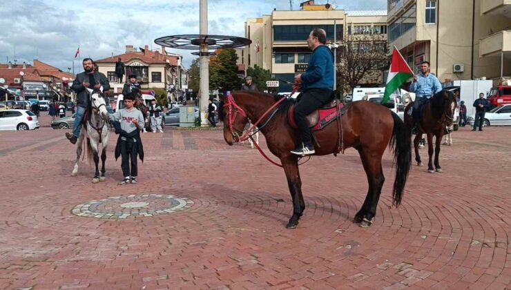
<path id="1" fill-rule="evenodd" d="M 233 95 L 220 96 L 218 117 L 224 123 L 224 139 L 229 145 L 239 142 L 248 118 L 245 110 L 240 107 Z"/>

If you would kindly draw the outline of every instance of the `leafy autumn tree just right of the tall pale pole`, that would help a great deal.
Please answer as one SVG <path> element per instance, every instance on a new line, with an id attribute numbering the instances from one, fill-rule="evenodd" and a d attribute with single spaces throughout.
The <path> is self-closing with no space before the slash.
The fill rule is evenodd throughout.
<path id="1" fill-rule="evenodd" d="M 217 50 L 209 61 L 209 88 L 211 90 L 239 90 L 238 56 L 232 48 Z"/>

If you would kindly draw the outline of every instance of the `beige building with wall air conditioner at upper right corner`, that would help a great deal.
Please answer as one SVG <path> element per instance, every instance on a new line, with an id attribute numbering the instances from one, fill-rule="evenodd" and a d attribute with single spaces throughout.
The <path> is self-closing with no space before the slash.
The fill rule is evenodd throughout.
<path id="1" fill-rule="evenodd" d="M 389 47 L 440 81 L 511 75 L 511 0 L 388 0 Z"/>

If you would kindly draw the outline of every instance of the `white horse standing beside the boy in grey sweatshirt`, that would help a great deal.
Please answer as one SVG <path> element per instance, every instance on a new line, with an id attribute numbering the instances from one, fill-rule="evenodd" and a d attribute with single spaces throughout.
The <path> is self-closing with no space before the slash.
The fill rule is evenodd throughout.
<path id="1" fill-rule="evenodd" d="M 81 156 L 81 145 L 83 144 L 85 135 L 87 134 L 87 153 L 88 160 L 90 162 L 91 159 L 94 160 L 95 163 L 95 174 L 93 178 L 93 183 L 98 183 L 100 181 L 104 182 L 105 177 L 105 160 L 106 160 L 106 147 L 108 146 L 108 134 L 109 130 L 109 122 L 108 122 L 108 111 L 106 110 L 106 101 L 102 95 L 102 91 L 99 90 L 91 90 L 87 88 L 90 103 L 92 104 L 92 108 L 88 113 L 88 119 L 85 120 L 86 124 L 82 126 L 81 134 L 78 137 L 77 142 L 77 150 L 76 150 L 76 163 L 75 168 L 73 168 L 73 173 L 71 176 L 76 176 L 78 174 L 78 162 Z M 101 177 L 99 176 L 99 143 L 102 143 L 102 168 L 101 168 Z"/>

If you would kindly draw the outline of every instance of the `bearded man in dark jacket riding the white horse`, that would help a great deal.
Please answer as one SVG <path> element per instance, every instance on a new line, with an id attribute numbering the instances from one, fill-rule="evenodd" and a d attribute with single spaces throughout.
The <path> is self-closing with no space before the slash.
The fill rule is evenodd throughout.
<path id="1" fill-rule="evenodd" d="M 76 76 L 71 86 L 71 90 L 77 93 L 77 109 L 73 133 L 66 133 L 66 137 L 72 144 L 77 142 L 81 131 L 81 120 L 84 119 L 86 108 L 90 106 L 90 97 L 86 88 L 99 90 L 103 87 L 104 92 L 110 89 L 110 84 L 105 75 L 94 70 L 94 61 L 92 59 L 84 59 L 83 64 L 84 72 L 80 72 Z"/>

